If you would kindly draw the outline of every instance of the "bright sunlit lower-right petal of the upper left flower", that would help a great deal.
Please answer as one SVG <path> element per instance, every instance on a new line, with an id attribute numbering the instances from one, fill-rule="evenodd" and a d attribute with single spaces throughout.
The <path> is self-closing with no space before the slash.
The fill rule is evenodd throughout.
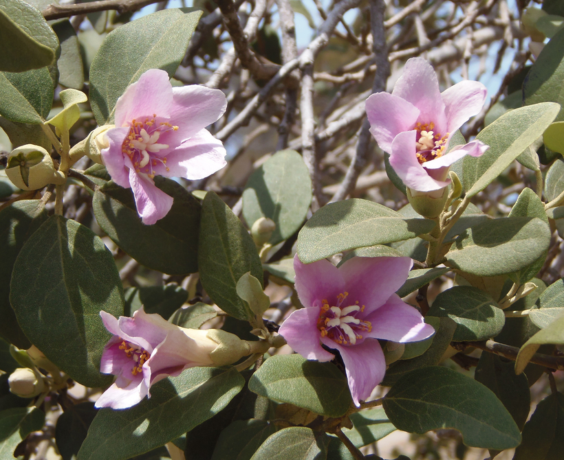
<path id="1" fill-rule="evenodd" d="M 223 168 L 227 164 L 225 156 L 224 144 L 208 130 L 202 129 L 169 153 L 166 166 L 159 163 L 155 166 L 155 172 L 160 176 L 177 176 L 196 181 Z"/>

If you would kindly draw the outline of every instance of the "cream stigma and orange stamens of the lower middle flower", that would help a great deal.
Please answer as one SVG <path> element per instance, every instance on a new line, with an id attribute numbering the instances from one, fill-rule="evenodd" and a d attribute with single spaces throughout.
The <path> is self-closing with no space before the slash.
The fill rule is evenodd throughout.
<path id="1" fill-rule="evenodd" d="M 365 310 L 364 305 L 359 306 L 358 301 L 354 305 L 343 305 L 347 295 L 348 292 L 339 294 L 336 306 L 329 306 L 329 302 L 323 299 L 317 320 L 317 328 L 321 331 L 321 336 L 329 337 L 339 345 L 355 345 L 357 339 L 362 338 L 359 332 L 372 330 L 369 321 L 357 318 L 358 312 Z"/>

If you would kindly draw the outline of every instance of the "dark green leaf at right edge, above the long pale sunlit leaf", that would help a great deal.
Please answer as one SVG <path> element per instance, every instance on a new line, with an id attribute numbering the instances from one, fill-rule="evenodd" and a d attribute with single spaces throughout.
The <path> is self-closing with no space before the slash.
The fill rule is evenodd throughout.
<path id="1" fill-rule="evenodd" d="M 523 82 L 523 101 L 526 105 L 539 102 L 564 104 L 562 80 L 564 79 L 564 30 L 554 35 L 536 58 Z M 556 122 L 564 119 L 560 110 Z"/>

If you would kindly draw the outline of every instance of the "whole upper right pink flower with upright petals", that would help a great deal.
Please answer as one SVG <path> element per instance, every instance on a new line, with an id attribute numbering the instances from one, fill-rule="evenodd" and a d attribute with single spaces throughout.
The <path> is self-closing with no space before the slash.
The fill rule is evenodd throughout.
<path id="1" fill-rule="evenodd" d="M 407 187 L 419 192 L 442 189 L 451 182 L 450 165 L 488 150 L 481 141 L 472 141 L 445 154 L 453 133 L 484 106 L 486 93 L 483 84 L 468 80 L 441 93 L 429 62 L 411 58 L 391 94 L 367 99 L 370 132 L 389 152 L 393 170 Z"/>

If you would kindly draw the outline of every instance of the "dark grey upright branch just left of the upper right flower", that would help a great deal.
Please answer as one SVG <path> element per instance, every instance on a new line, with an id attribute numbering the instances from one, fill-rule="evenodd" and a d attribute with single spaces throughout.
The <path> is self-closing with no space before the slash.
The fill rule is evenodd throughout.
<path id="1" fill-rule="evenodd" d="M 384 12 L 386 4 L 384 0 L 370 1 L 370 23 L 373 36 L 373 51 L 376 55 L 376 76 L 372 84 L 372 92 L 378 93 L 386 91 L 386 82 L 390 76 L 390 63 L 388 60 L 388 48 L 386 46 L 386 35 L 384 32 Z M 356 185 L 356 181 L 360 172 L 365 167 L 366 157 L 370 144 L 370 123 L 368 119 L 362 123 L 360 135 L 358 136 L 358 144 L 351 160 L 345 179 L 332 201 L 340 201 L 347 198 Z"/>

